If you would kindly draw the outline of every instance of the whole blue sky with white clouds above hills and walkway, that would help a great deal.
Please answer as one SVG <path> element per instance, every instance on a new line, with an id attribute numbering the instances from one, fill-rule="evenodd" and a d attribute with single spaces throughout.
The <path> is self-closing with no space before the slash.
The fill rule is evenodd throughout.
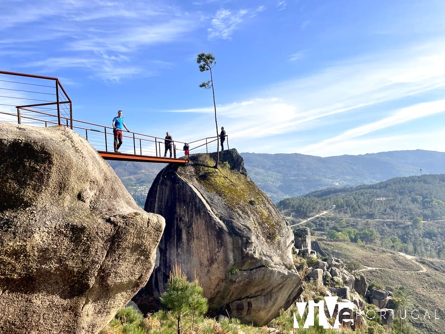
<path id="1" fill-rule="evenodd" d="M 443 0 L 1 0 L 0 69 L 57 77 L 74 118 L 239 152 L 445 151 Z"/>

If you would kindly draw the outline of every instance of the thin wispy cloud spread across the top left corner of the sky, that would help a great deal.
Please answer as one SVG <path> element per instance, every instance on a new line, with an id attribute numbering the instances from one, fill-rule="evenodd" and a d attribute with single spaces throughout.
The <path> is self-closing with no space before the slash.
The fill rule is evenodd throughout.
<path id="1" fill-rule="evenodd" d="M 196 29 L 199 21 L 174 6 L 145 1 L 134 1 L 131 10 L 125 3 L 100 0 L 64 1 L 57 6 L 46 0 L 18 1 L 7 8 L 0 13 L 0 32 L 8 36 L 0 41 L 0 50 L 23 48 L 19 54 L 22 67 L 39 67 L 51 73 L 61 68 L 84 68 L 107 81 L 156 73 L 156 59 L 135 65 L 135 54 L 180 40 Z M 39 57 L 45 49 L 52 50 L 49 59 Z M 35 60 L 39 58 L 42 60 Z"/>

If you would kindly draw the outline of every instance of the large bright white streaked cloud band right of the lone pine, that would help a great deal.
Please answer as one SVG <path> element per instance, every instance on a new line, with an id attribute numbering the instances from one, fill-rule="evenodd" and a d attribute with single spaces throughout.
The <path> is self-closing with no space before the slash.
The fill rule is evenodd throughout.
<path id="1" fill-rule="evenodd" d="M 374 134 L 384 129 L 445 112 L 445 100 L 406 101 L 445 89 L 443 45 L 438 40 L 350 59 L 271 85 L 256 93 L 261 97 L 218 105 L 219 123 L 230 129 L 232 140 L 241 140 L 257 152 L 264 151 L 257 141 L 280 147 L 280 140 L 286 143 L 280 151 L 313 155 L 332 153 L 342 143 L 365 150 L 366 146 L 354 142 L 378 139 L 381 135 Z M 403 104 L 406 107 L 400 107 Z M 212 113 L 213 107 L 184 111 Z"/>

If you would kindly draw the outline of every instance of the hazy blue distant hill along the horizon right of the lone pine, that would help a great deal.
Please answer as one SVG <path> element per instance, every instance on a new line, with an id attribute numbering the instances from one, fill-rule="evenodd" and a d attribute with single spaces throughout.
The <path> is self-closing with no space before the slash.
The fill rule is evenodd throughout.
<path id="1" fill-rule="evenodd" d="M 249 176 L 274 202 L 325 188 L 445 173 L 445 152 L 420 149 L 324 158 L 299 153 L 241 156 Z"/>

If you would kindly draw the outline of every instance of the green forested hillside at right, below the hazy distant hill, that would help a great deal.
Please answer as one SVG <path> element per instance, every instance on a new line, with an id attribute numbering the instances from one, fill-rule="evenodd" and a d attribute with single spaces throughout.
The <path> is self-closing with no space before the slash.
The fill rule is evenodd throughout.
<path id="1" fill-rule="evenodd" d="M 327 239 L 374 243 L 411 255 L 445 258 L 444 174 L 314 191 L 277 205 L 294 222 L 333 208 L 308 223 Z"/>

